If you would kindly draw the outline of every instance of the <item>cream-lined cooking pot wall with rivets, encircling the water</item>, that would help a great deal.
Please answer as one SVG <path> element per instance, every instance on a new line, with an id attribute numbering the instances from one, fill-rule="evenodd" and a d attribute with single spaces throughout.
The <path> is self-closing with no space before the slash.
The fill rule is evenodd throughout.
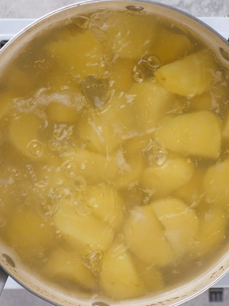
<path id="1" fill-rule="evenodd" d="M 7 62 L 15 55 L 18 54 L 20 49 L 42 30 L 53 26 L 56 22 L 70 18 L 75 15 L 86 15 L 100 9 L 117 9 L 131 11 L 145 10 L 148 12 L 158 13 L 162 16 L 169 17 L 176 21 L 183 29 L 188 29 L 205 39 L 211 48 L 213 48 L 218 54 L 218 57 L 224 62 L 224 66 L 229 68 L 229 43 L 215 32 L 208 25 L 204 24 L 197 18 L 184 13 L 178 9 L 174 9 L 170 6 L 163 5 L 161 3 L 151 1 L 131 1 L 131 0 L 93 0 L 82 1 L 76 4 L 66 6 L 58 9 L 44 17 L 41 17 L 37 21 L 33 22 L 16 36 L 14 36 L 0 51 L 0 67 L 1 70 L 5 68 Z M 20 263 L 20 259 L 16 258 L 15 254 L 10 252 L 9 248 L 1 245 L 0 253 L 0 286 L 1 291 L 4 287 L 8 275 L 10 275 L 16 282 L 22 285 L 25 289 L 34 293 L 38 297 L 46 300 L 54 305 L 78 305 L 78 306 L 104 306 L 107 303 L 109 305 L 119 304 L 121 305 L 178 305 L 211 287 L 220 278 L 222 278 L 229 271 L 229 243 L 225 244 L 218 255 L 218 260 L 210 263 L 210 268 L 207 271 L 202 271 L 199 267 L 199 276 L 192 279 L 178 288 L 171 289 L 165 293 L 161 293 L 157 296 L 147 296 L 135 300 L 126 300 L 120 302 L 114 302 L 108 298 L 104 298 L 96 295 L 96 297 L 87 297 L 85 294 L 76 293 L 75 297 L 67 296 L 64 292 L 60 292 L 57 289 L 50 289 L 42 283 L 39 279 L 36 279 L 34 275 L 28 275 L 17 263 Z"/>

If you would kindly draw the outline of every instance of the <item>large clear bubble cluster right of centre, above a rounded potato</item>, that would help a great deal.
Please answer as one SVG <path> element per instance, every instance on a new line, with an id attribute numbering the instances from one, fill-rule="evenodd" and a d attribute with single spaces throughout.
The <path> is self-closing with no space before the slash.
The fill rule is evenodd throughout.
<path id="1" fill-rule="evenodd" d="M 162 166 L 168 158 L 168 152 L 163 147 L 160 139 L 150 139 L 147 146 L 142 150 L 142 154 L 148 167 Z"/>

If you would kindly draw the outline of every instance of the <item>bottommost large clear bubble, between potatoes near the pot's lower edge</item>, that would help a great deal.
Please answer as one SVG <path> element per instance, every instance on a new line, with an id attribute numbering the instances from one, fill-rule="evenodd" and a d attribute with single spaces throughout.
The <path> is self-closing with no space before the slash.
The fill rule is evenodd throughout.
<path id="1" fill-rule="evenodd" d="M 100 250 L 92 251 L 89 255 L 82 256 L 82 265 L 96 276 L 102 268 L 103 253 Z"/>

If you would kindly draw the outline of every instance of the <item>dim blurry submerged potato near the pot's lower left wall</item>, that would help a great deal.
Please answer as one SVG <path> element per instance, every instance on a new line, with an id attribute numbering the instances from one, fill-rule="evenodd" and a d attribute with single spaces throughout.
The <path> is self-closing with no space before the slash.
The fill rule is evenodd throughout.
<path id="1" fill-rule="evenodd" d="M 55 241 L 55 227 L 28 209 L 14 211 L 6 229 L 7 241 L 21 259 L 33 260 L 43 256 Z"/>

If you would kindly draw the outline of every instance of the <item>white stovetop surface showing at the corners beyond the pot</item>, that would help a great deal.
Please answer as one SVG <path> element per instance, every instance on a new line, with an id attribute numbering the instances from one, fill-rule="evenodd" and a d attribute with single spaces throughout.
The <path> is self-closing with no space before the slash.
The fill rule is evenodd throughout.
<path id="1" fill-rule="evenodd" d="M 211 28 L 220 33 L 225 39 L 229 37 L 229 17 L 199 17 Z M 35 19 L 1 19 L 0 18 L 0 41 L 10 39 L 21 29 L 26 27 Z M 229 273 L 224 276 L 213 287 L 229 287 Z M 11 277 L 6 281 L 4 289 L 22 289 Z"/>

